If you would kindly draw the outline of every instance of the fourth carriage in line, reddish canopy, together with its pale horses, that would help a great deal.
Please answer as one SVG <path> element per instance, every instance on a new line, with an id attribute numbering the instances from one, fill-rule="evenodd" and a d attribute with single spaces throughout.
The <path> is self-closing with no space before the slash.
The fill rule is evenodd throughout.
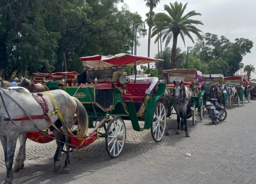
<path id="1" fill-rule="evenodd" d="M 237 103 L 240 106 L 240 103 L 244 105 L 245 99 L 245 87 L 243 86 L 243 81 L 241 76 L 231 76 L 225 77 L 225 85 L 227 90 L 227 100 L 229 107 L 232 107 L 233 103 Z"/>

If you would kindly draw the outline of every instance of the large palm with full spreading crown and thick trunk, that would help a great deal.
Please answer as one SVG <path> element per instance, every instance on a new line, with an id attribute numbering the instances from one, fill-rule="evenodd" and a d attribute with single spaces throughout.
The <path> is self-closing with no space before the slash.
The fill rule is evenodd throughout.
<path id="1" fill-rule="evenodd" d="M 159 36 L 163 36 L 163 41 L 165 42 L 165 47 L 169 44 L 170 40 L 173 38 L 173 48 L 172 48 L 172 58 L 171 58 L 171 68 L 175 68 L 175 57 L 176 57 L 176 48 L 177 48 L 177 40 L 178 35 L 181 36 L 181 39 L 184 42 L 184 36 L 188 36 L 194 43 L 194 39 L 190 35 L 191 33 L 196 34 L 200 39 L 202 36 L 200 35 L 201 30 L 196 28 L 194 25 L 203 25 L 200 20 L 190 19 L 192 16 L 201 15 L 201 13 L 197 13 L 195 10 L 190 11 L 187 14 L 184 14 L 184 11 L 187 7 L 187 3 L 183 6 L 182 3 L 175 2 L 170 3 L 170 6 L 164 5 L 164 10 L 168 13 L 157 13 L 154 18 L 153 24 L 153 32 L 151 37 L 157 35 L 157 33 L 161 34 Z"/>

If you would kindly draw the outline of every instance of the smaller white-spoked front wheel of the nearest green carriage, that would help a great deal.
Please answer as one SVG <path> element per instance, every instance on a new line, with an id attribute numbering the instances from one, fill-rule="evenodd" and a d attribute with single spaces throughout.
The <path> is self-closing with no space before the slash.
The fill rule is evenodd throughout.
<path id="1" fill-rule="evenodd" d="M 106 152 L 112 158 L 117 158 L 124 147 L 126 140 L 125 124 L 120 117 L 113 118 L 106 129 L 105 147 Z"/>

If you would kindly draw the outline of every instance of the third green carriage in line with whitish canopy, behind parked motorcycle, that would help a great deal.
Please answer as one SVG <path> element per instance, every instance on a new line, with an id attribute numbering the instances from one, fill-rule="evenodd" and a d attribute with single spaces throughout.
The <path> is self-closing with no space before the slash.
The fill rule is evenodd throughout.
<path id="1" fill-rule="evenodd" d="M 224 76 L 223 74 L 202 74 L 203 78 L 203 89 L 209 92 L 209 87 L 211 84 L 220 85 L 222 91 L 221 103 L 225 107 L 227 104 L 227 91 L 224 87 Z"/>

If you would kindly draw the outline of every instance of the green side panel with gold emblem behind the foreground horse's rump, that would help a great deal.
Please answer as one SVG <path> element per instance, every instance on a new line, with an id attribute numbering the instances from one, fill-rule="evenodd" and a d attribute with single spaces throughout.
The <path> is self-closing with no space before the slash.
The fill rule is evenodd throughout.
<path id="1" fill-rule="evenodd" d="M 95 90 L 94 87 L 80 87 L 77 90 L 78 87 L 66 87 L 66 92 L 73 96 L 75 93 L 75 96 L 80 102 L 88 102 L 91 103 L 91 101 L 95 101 Z M 77 90 L 77 91 L 76 91 Z M 89 93 L 90 90 L 90 93 Z"/>

